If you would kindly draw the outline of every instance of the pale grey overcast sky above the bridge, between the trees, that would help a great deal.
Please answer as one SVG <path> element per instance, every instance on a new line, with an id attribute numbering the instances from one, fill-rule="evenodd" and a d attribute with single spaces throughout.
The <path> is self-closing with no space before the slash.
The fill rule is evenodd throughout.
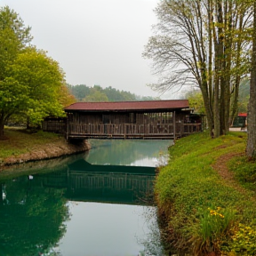
<path id="1" fill-rule="evenodd" d="M 0 0 L 32 27 L 33 44 L 60 63 L 68 84 L 158 96 L 141 53 L 160 0 Z"/>

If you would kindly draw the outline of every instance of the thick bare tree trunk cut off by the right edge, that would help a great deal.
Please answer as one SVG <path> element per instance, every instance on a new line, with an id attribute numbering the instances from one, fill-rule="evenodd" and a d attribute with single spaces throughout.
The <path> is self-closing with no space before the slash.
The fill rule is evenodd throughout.
<path id="1" fill-rule="evenodd" d="M 254 0 L 253 34 L 252 34 L 252 72 L 250 100 L 248 104 L 248 140 L 246 155 L 256 157 L 256 0 Z"/>

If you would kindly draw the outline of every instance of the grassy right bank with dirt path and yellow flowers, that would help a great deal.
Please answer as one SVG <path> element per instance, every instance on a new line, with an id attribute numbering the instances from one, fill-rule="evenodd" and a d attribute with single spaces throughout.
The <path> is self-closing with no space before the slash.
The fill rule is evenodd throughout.
<path id="1" fill-rule="evenodd" d="M 188 255 L 256 255 L 256 164 L 246 133 L 176 141 L 156 180 L 166 248 Z"/>

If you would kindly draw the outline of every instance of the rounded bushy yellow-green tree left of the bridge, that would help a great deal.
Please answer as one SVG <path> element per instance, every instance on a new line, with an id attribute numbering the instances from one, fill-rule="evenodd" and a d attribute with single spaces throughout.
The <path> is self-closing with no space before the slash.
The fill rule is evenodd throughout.
<path id="1" fill-rule="evenodd" d="M 0 81 L 0 138 L 12 115 L 27 116 L 31 124 L 40 124 L 45 116 L 60 116 L 63 110 L 59 93 L 63 84 L 59 64 L 45 52 L 35 48 L 20 52 Z"/>

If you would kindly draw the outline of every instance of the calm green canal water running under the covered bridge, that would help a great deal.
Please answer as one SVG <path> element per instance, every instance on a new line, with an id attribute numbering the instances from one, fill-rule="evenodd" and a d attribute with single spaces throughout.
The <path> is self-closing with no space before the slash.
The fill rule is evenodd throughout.
<path id="1" fill-rule="evenodd" d="M 162 255 L 153 182 L 172 141 L 90 142 L 0 172 L 0 256 Z"/>

